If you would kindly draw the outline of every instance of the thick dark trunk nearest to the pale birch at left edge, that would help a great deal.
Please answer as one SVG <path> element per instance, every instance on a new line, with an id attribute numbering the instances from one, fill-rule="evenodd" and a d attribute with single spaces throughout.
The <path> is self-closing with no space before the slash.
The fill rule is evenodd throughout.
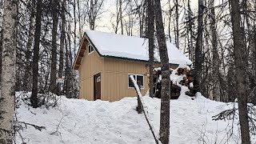
<path id="1" fill-rule="evenodd" d="M 41 37 L 41 19 L 42 19 L 42 0 L 37 1 L 37 13 L 35 18 L 34 31 L 34 54 L 33 54 L 33 87 L 30 98 L 31 105 L 34 108 L 38 107 L 38 62 L 39 62 L 39 47 Z"/>

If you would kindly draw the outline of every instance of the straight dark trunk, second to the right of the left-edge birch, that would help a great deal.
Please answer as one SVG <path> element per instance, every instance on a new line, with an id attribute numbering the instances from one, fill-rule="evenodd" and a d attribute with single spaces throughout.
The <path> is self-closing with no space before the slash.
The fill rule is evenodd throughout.
<path id="1" fill-rule="evenodd" d="M 52 30 L 52 50 L 50 63 L 50 92 L 57 94 L 56 74 L 57 74 L 57 30 L 58 30 L 58 14 L 57 1 L 52 4 L 53 30 Z"/>

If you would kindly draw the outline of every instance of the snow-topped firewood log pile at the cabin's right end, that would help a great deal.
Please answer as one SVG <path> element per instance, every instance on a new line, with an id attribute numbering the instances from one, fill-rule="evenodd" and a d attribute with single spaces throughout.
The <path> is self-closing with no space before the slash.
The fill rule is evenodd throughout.
<path id="1" fill-rule="evenodd" d="M 170 99 L 178 99 L 181 93 L 181 86 L 187 86 L 189 91 L 186 95 L 193 97 L 193 75 L 189 66 L 178 66 L 177 69 L 170 69 Z M 162 75 L 161 68 L 154 69 L 154 97 L 161 98 Z"/>

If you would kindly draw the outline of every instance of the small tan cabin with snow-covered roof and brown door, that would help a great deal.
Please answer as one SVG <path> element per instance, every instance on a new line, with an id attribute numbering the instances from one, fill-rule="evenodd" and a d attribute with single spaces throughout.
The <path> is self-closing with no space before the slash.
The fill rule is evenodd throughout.
<path id="1" fill-rule="evenodd" d="M 170 67 L 191 65 L 191 61 L 167 42 Z M 155 65 L 160 66 L 158 51 Z M 148 40 L 134 36 L 86 30 L 73 69 L 79 71 L 79 98 L 90 101 L 118 101 L 134 97 L 136 92 L 129 76 L 134 75 L 142 94 L 149 89 Z"/>

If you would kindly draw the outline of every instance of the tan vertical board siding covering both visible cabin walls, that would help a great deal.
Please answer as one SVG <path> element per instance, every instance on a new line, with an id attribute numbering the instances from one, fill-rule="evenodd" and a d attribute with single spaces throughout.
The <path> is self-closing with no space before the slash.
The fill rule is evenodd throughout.
<path id="1" fill-rule="evenodd" d="M 114 102 L 124 97 L 136 96 L 134 88 L 128 87 L 128 74 L 144 75 L 142 94 L 146 94 L 149 89 L 146 64 L 147 62 L 101 58 L 95 50 L 88 54 L 86 49 L 82 64 L 78 69 L 80 74 L 79 98 L 94 100 L 94 74 L 98 73 L 101 73 L 101 99 L 103 101 Z M 160 66 L 160 63 L 155 66 Z M 177 66 L 170 67 L 176 68 Z"/>

